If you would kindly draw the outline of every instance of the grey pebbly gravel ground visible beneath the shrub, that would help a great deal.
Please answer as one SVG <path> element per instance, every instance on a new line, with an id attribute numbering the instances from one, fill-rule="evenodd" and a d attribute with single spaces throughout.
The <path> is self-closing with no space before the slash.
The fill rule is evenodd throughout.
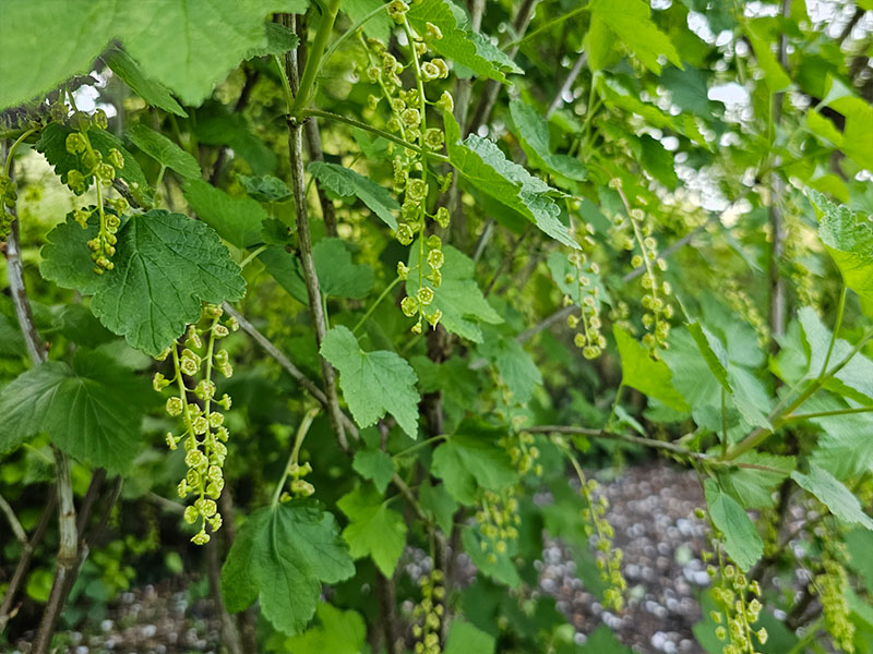
<path id="1" fill-rule="evenodd" d="M 697 479 L 667 463 L 629 468 L 601 483 L 610 502 L 607 519 L 614 543 L 624 550 L 627 606 L 605 610 L 575 574 L 563 545 L 547 540 L 540 566 L 540 590 L 552 594 L 576 628 L 577 642 L 600 623 L 639 654 L 698 654 L 692 626 L 699 619 L 696 594 L 709 584 L 699 559 L 706 525 L 694 518 L 703 505 Z M 183 654 L 219 651 L 218 621 L 208 601 L 190 602 L 191 580 L 170 580 L 122 594 L 108 618 L 67 632 L 67 654 Z M 26 654 L 26 641 L 13 654 Z"/>

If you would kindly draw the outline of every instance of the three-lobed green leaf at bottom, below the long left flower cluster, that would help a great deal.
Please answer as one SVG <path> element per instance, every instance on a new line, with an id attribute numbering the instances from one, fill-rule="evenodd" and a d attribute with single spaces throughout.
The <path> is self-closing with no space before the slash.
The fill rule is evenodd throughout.
<path id="1" fill-rule="evenodd" d="M 258 509 L 242 525 L 222 568 L 222 595 L 231 613 L 259 600 L 264 617 L 292 635 L 315 613 L 321 584 L 354 573 L 333 514 L 294 499 Z"/>

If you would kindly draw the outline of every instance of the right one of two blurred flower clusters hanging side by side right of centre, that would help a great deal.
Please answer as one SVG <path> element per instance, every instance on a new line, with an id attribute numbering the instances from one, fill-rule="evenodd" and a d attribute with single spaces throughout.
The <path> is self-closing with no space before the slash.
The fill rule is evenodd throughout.
<path id="1" fill-rule="evenodd" d="M 646 213 L 641 208 L 631 208 L 627 197 L 622 191 L 621 180 L 613 178 L 609 186 L 615 190 L 621 197 L 627 216 L 615 216 L 612 220 L 613 237 L 621 246 L 633 252 L 638 250 L 631 259 L 634 268 L 645 268 L 641 276 L 643 287 L 643 326 L 646 335 L 643 343 L 651 350 L 667 349 L 667 337 L 670 335 L 670 318 L 673 316 L 673 306 L 668 303 L 672 294 L 669 281 L 661 281 L 660 274 L 667 270 L 667 261 L 658 256 L 658 242 L 653 235 L 651 222 L 646 220 Z"/>

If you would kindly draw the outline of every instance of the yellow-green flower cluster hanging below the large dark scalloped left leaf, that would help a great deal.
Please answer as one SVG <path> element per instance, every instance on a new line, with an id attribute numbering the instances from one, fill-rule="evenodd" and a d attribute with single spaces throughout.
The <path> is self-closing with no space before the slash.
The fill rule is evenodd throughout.
<path id="1" fill-rule="evenodd" d="M 179 444 L 186 451 L 184 462 L 188 473 L 179 482 L 179 497 L 193 494 L 196 499 L 184 510 L 184 520 L 189 524 L 200 520 L 200 532 L 191 541 L 202 545 L 210 541 L 206 524 L 212 531 L 222 526 L 222 514 L 217 500 L 225 486 L 224 463 L 227 457 L 229 433 L 224 426 L 225 416 L 219 409 L 230 409 L 230 397 L 225 393 L 216 399 L 216 387 L 213 371 L 218 370 L 225 377 L 234 374 L 227 350 L 216 351 L 216 343 L 225 338 L 238 325 L 231 317 L 222 322 L 223 310 L 215 304 L 203 308 L 201 320 L 189 325 L 182 342 L 174 343 L 157 358 L 164 361 L 172 356 L 174 375 L 166 378 L 157 373 L 153 386 L 160 392 L 175 385 L 177 393 L 167 399 L 166 410 L 172 417 L 182 419 L 181 433 L 168 432 L 167 446 L 175 450 Z M 205 342 L 204 342 L 205 341 Z M 195 399 L 191 398 L 191 395 Z"/>

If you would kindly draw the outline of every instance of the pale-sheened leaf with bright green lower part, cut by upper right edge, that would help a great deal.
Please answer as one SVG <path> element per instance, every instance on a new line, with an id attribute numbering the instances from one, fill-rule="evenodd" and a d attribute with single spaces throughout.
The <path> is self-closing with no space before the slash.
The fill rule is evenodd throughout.
<path id="1" fill-rule="evenodd" d="M 873 223 L 817 191 L 808 193 L 818 216 L 818 237 L 846 286 L 858 293 L 866 313 L 873 316 Z"/>

